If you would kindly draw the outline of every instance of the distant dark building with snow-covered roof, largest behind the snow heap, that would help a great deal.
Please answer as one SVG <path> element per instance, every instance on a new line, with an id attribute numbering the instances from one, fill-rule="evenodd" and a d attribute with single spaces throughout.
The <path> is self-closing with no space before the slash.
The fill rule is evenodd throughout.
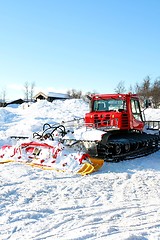
<path id="1" fill-rule="evenodd" d="M 48 94 L 45 94 L 43 92 L 39 92 L 33 97 L 33 99 L 35 101 L 37 101 L 37 100 L 47 100 L 49 102 L 53 102 L 53 100 L 56 100 L 56 99 L 69 99 L 69 98 L 70 98 L 70 96 L 68 94 L 54 93 L 54 92 L 49 92 Z"/>

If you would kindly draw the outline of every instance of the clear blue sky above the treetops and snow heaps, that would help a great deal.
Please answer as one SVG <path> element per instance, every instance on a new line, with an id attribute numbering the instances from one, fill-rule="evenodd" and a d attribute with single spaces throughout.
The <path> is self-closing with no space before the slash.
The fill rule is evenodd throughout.
<path id="1" fill-rule="evenodd" d="M 0 0 L 0 87 L 113 93 L 160 76 L 159 0 Z M 1 94 L 1 93 L 0 93 Z"/>

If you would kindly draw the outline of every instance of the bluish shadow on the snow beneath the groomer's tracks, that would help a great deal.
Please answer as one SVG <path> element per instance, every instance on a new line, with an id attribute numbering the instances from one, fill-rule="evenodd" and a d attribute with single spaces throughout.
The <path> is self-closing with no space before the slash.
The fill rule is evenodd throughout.
<path id="1" fill-rule="evenodd" d="M 160 171 L 160 151 L 132 160 L 105 162 L 100 172 L 133 173 L 142 170 Z"/>

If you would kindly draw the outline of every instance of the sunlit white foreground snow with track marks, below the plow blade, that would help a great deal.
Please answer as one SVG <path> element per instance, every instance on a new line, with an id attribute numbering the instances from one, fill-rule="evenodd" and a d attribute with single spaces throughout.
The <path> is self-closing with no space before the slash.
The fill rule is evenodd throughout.
<path id="1" fill-rule="evenodd" d="M 2 239 L 160 237 L 159 172 L 81 177 L 29 169 L 17 165 L 14 172 L 6 165 L 0 176 Z"/>

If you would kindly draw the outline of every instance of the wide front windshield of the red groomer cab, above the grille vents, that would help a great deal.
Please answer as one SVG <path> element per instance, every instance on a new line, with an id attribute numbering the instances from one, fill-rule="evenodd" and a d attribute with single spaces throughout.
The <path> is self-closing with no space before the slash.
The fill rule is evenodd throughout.
<path id="1" fill-rule="evenodd" d="M 107 99 L 96 100 L 93 104 L 93 111 L 123 111 L 126 110 L 124 100 Z"/>

